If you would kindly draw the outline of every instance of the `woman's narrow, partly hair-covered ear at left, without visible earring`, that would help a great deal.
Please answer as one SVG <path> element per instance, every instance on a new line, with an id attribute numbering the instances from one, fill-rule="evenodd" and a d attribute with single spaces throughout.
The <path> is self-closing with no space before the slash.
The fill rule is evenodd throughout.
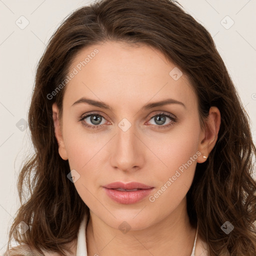
<path id="1" fill-rule="evenodd" d="M 54 102 L 52 104 L 52 118 L 54 122 L 54 133 L 58 142 L 58 153 L 63 160 L 67 160 L 68 159 L 67 152 L 65 149 L 65 144 L 62 136 L 60 121 L 58 119 L 58 113 L 59 113 L 59 110 L 58 110 L 57 104 L 56 102 Z"/>

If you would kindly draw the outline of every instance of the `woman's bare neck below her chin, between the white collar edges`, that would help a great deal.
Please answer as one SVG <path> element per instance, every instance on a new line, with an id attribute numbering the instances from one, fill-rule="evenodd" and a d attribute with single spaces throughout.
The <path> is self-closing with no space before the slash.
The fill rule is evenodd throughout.
<path id="1" fill-rule="evenodd" d="M 185 198 L 157 223 L 127 233 L 112 228 L 91 212 L 86 226 L 87 252 L 88 256 L 190 256 L 195 233 L 196 229 L 189 223 Z"/>

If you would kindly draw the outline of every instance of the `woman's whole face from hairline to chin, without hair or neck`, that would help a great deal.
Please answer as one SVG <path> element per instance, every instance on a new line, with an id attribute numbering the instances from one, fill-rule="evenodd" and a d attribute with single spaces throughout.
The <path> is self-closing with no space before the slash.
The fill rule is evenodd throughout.
<path id="1" fill-rule="evenodd" d="M 62 133 L 55 134 L 91 214 L 132 229 L 180 214 L 196 162 L 208 153 L 185 74 L 152 47 L 119 42 L 82 49 L 69 70 Z M 168 103 L 156 104 L 162 100 Z M 125 187 L 130 182 L 147 187 Z"/>

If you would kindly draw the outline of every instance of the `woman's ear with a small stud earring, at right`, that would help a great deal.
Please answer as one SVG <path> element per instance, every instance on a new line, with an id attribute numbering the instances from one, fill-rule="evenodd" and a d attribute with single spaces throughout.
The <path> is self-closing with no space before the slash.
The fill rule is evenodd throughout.
<path id="1" fill-rule="evenodd" d="M 220 118 L 218 108 L 211 106 L 208 118 L 205 121 L 205 128 L 200 133 L 198 150 L 201 152 L 201 155 L 197 158 L 197 162 L 206 161 L 210 151 L 214 147 L 218 137 Z"/>

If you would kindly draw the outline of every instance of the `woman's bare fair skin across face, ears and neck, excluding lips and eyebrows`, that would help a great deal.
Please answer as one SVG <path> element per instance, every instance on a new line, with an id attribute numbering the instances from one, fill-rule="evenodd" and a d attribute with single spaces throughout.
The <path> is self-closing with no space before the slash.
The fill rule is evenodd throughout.
<path id="1" fill-rule="evenodd" d="M 208 156 L 215 145 L 220 112 L 211 107 L 201 128 L 197 97 L 188 78 L 183 74 L 174 80 L 169 72 L 175 65 L 150 46 L 96 44 L 80 50 L 70 70 L 95 48 L 99 52 L 66 85 L 61 119 L 56 104 L 52 105 L 59 154 L 68 159 L 70 170 L 79 173 L 74 186 L 90 209 L 88 255 L 190 255 L 196 229 L 189 223 L 185 195 L 196 163 L 204 162 L 203 155 Z M 101 100 L 112 110 L 87 103 L 72 106 L 82 96 Z M 165 98 L 184 106 L 140 109 Z M 79 121 L 84 113 L 94 111 L 103 116 L 101 128 L 87 128 Z M 166 117 L 159 124 L 153 118 L 159 111 L 175 115 L 176 121 Z M 131 124 L 126 131 L 118 126 L 123 118 Z M 96 125 L 90 117 L 86 121 Z M 102 188 L 114 181 L 137 181 L 153 186 L 150 195 L 154 195 L 196 152 L 197 159 L 154 202 L 147 196 L 134 204 L 120 204 Z M 123 221 L 131 228 L 127 233 L 118 228 Z"/>

